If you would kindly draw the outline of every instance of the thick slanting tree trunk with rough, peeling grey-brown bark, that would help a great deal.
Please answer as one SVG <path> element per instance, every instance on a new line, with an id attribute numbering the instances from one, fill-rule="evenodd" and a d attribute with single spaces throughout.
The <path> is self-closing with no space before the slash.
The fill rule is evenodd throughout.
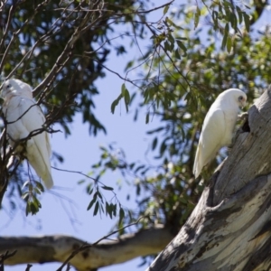
<path id="1" fill-rule="evenodd" d="M 271 270 L 271 88 L 248 110 L 228 159 L 149 271 Z"/>

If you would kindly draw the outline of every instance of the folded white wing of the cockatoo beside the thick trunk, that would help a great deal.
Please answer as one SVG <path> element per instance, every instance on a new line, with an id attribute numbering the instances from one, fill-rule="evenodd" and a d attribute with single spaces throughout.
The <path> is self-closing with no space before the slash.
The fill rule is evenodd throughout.
<path id="1" fill-rule="evenodd" d="M 210 110 L 204 119 L 193 166 L 196 178 L 200 175 L 203 166 L 208 164 L 220 150 L 221 138 L 225 132 L 226 123 L 223 110 L 220 108 Z"/>

